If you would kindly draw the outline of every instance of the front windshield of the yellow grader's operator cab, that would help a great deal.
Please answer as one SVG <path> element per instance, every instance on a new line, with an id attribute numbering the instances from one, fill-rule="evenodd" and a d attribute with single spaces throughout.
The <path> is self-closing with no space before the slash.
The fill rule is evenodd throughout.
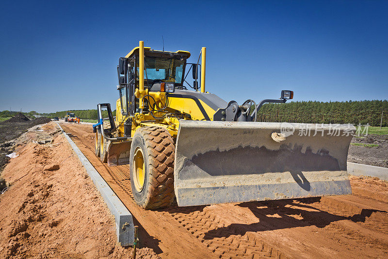
<path id="1" fill-rule="evenodd" d="M 163 82 L 180 84 L 182 83 L 184 62 L 184 60 L 174 58 L 145 57 L 146 71 L 144 77 L 148 80 L 160 79 Z M 139 68 L 137 71 L 139 71 Z"/>

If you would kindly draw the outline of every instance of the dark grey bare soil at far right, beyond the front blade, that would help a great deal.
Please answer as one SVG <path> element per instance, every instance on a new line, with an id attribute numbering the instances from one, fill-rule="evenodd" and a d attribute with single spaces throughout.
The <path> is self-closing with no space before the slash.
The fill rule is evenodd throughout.
<path id="1" fill-rule="evenodd" d="M 388 167 L 388 135 L 353 137 L 349 146 L 348 161 Z"/>

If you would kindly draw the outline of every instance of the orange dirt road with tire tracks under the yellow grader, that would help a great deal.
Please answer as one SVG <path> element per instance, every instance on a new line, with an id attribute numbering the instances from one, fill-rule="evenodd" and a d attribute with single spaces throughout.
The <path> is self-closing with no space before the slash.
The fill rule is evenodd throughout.
<path id="1" fill-rule="evenodd" d="M 352 195 L 145 211 L 131 199 L 129 166 L 94 155 L 90 125 L 61 124 L 162 258 L 388 258 L 386 182 L 353 177 Z"/>

